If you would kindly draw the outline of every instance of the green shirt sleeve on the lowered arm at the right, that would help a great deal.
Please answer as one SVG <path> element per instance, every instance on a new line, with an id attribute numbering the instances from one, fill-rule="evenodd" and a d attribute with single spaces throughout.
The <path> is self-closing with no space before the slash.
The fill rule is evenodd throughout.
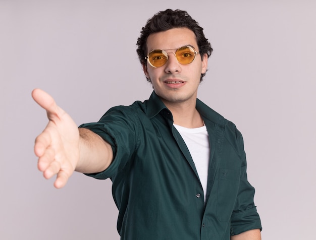
<path id="1" fill-rule="evenodd" d="M 237 144 L 241 154 L 241 173 L 240 184 L 235 202 L 234 210 L 231 216 L 231 235 L 240 234 L 252 229 L 260 229 L 261 221 L 254 205 L 254 188 L 247 179 L 247 162 L 244 152 L 244 144 L 241 133 L 236 129 Z"/>

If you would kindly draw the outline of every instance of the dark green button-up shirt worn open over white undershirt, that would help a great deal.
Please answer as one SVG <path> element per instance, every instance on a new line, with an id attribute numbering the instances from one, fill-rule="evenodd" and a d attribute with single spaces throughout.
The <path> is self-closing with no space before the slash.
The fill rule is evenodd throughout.
<path id="1" fill-rule="evenodd" d="M 112 145 L 110 167 L 88 175 L 111 178 L 121 239 L 228 240 L 261 229 L 240 132 L 198 99 L 196 108 L 210 142 L 205 205 L 190 152 L 154 92 L 144 102 L 113 107 L 98 123 L 80 126 Z"/>

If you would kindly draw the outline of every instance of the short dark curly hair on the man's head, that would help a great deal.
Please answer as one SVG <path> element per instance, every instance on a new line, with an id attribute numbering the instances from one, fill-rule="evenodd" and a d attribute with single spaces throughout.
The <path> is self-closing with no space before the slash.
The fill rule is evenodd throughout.
<path id="1" fill-rule="evenodd" d="M 203 28 L 198 25 L 198 23 L 191 18 L 191 16 L 182 10 L 171 10 L 167 9 L 166 11 L 161 11 L 155 14 L 151 19 L 148 19 L 145 27 L 140 31 L 140 36 L 137 39 L 136 45 L 137 54 L 139 61 L 142 65 L 146 64 L 146 55 L 147 55 L 147 38 L 152 33 L 167 31 L 172 28 L 188 28 L 192 30 L 196 36 L 196 42 L 198 45 L 198 51 L 200 52 L 201 57 L 207 53 L 207 57 L 212 54 L 213 48 L 205 38 L 203 33 Z M 200 82 L 205 74 L 201 74 Z M 147 79 L 149 82 L 150 80 Z"/>

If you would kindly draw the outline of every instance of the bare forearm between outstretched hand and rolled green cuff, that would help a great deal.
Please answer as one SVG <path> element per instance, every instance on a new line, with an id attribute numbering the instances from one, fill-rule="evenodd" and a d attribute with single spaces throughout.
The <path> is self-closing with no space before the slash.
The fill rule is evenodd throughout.
<path id="1" fill-rule="evenodd" d="M 109 143 L 92 131 L 79 128 L 79 162 L 76 171 L 84 173 L 101 172 L 113 161 L 113 151 Z"/>

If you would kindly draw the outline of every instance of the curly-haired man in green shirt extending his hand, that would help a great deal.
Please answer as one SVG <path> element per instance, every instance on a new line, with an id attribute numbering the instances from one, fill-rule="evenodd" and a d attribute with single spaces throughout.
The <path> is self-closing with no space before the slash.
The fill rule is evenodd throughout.
<path id="1" fill-rule="evenodd" d="M 47 93 L 34 100 L 49 123 L 35 141 L 44 177 L 65 186 L 74 170 L 110 177 L 122 239 L 260 239 L 236 127 L 197 99 L 212 52 L 184 11 L 148 20 L 138 55 L 149 100 L 111 108 L 78 128 Z"/>

